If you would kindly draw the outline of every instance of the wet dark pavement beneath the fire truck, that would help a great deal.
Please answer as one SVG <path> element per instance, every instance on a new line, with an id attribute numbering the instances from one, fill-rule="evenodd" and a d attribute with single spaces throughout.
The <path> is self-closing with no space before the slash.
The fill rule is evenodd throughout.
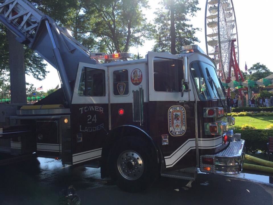
<path id="1" fill-rule="evenodd" d="M 35 158 L 0 167 L 0 205 L 59 204 L 61 190 L 74 185 L 82 204 L 272 204 L 271 176 L 198 174 L 188 181 L 161 177 L 144 192 L 128 193 L 100 178 L 100 169 L 63 166 Z M 254 180 L 249 180 L 253 178 Z"/>

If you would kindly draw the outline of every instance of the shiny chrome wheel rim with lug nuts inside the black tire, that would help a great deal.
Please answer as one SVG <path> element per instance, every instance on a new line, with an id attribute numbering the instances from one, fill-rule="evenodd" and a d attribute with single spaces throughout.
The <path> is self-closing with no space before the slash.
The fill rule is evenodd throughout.
<path id="1" fill-rule="evenodd" d="M 123 151 L 117 158 L 118 171 L 122 177 L 136 180 L 142 176 L 144 164 L 142 157 L 135 151 Z"/>

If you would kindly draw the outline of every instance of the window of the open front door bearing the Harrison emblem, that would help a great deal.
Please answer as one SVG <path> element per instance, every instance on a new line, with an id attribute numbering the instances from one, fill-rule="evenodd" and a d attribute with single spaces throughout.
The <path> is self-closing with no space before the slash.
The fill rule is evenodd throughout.
<path id="1" fill-rule="evenodd" d="M 181 92 L 183 63 L 181 60 L 154 62 L 154 90 Z"/>

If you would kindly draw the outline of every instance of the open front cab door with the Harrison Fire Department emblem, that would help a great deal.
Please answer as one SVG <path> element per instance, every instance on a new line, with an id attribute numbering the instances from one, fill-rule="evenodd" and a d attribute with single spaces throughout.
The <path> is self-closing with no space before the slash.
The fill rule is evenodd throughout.
<path id="1" fill-rule="evenodd" d="M 148 129 L 166 168 L 195 166 L 195 101 L 190 82 L 181 92 L 183 61 L 177 55 L 148 52 L 148 76 Z"/>

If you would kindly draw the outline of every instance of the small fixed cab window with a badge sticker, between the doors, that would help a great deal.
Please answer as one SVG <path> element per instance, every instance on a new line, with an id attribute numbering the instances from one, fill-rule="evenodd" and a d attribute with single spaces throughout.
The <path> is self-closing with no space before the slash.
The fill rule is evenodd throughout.
<path id="1" fill-rule="evenodd" d="M 127 95 L 129 93 L 128 70 L 113 71 L 114 95 Z"/>

